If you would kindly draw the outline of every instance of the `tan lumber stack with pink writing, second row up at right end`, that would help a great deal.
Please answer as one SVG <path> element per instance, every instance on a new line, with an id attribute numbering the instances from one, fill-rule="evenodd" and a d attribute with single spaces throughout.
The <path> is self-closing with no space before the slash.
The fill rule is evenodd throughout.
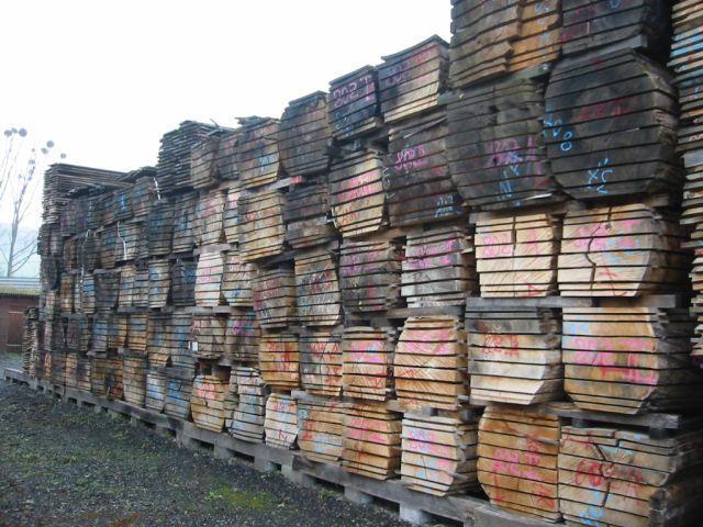
<path id="1" fill-rule="evenodd" d="M 581 408 L 618 414 L 699 406 L 693 327 L 681 309 L 565 307 L 567 393 Z"/>

